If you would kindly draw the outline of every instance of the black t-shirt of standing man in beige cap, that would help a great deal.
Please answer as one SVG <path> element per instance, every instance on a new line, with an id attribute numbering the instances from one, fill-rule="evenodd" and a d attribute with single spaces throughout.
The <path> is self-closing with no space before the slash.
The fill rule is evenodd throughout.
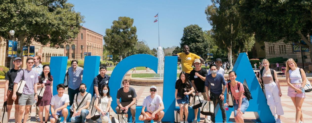
<path id="1" fill-rule="evenodd" d="M 195 72 L 197 72 L 199 75 L 206 77 L 208 75 L 208 72 L 206 69 L 200 69 L 199 71 L 195 71 L 195 69 L 193 69 L 190 72 L 190 80 L 194 81 L 194 84 L 197 88 L 198 92 L 204 93 L 206 92 L 205 89 L 205 81 L 203 81 L 202 79 L 200 79 L 200 77 L 197 76 L 197 78 L 195 78 Z"/>

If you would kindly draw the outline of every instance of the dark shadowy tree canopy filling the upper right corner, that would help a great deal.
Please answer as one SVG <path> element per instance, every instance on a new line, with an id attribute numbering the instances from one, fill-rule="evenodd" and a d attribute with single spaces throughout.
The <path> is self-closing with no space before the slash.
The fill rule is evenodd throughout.
<path id="1" fill-rule="evenodd" d="M 309 36 L 312 35 L 311 0 L 241 0 L 239 12 L 246 31 L 255 33 L 259 43 L 295 43 L 312 49 Z M 306 44 L 299 43 L 303 40 Z M 312 61 L 312 52 L 310 52 Z"/>

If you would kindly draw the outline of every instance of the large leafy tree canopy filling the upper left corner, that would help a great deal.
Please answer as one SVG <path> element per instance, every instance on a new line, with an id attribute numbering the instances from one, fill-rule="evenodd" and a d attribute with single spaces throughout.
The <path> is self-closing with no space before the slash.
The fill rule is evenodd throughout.
<path id="1" fill-rule="evenodd" d="M 33 40 L 56 48 L 70 43 L 69 39 L 78 35 L 80 24 L 85 22 L 67 0 L 1 0 L 0 20 L 0 36 L 11 40 L 9 31 L 14 30 L 18 50 Z"/>

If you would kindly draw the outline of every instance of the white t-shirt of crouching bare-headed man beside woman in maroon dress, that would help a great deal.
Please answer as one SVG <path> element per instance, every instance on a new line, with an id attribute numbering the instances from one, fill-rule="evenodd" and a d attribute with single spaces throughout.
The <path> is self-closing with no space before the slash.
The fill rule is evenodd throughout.
<path id="1" fill-rule="evenodd" d="M 56 95 L 54 95 L 52 98 L 51 98 L 51 102 L 50 104 L 53 105 L 53 109 L 57 109 L 59 107 L 62 107 L 65 102 L 69 102 L 69 96 L 68 94 L 65 94 L 63 93 L 63 96 L 62 97 L 59 97 Z M 57 112 L 61 112 L 62 110 L 57 110 Z"/>

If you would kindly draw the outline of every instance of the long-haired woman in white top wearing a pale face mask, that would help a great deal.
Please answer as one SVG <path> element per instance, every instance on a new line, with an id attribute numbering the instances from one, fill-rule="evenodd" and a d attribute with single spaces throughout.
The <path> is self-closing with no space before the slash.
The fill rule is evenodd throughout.
<path id="1" fill-rule="evenodd" d="M 104 84 L 101 87 L 101 90 L 102 90 L 101 94 L 98 95 L 95 99 L 95 108 L 98 111 L 101 111 L 101 116 L 97 120 L 97 123 L 102 123 L 103 116 L 110 117 L 110 104 L 113 101 L 112 97 L 110 97 L 110 87 L 108 86 L 108 84 Z M 99 107 L 99 101 L 101 101 L 100 102 L 101 107 Z M 109 119 L 109 123 L 112 123 L 110 119 Z"/>

